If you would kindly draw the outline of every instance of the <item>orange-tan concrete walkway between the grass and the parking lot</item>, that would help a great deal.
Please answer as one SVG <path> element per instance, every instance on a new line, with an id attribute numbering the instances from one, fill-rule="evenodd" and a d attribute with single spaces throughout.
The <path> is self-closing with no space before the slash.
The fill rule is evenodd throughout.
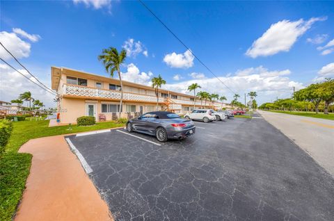
<path id="1" fill-rule="evenodd" d="M 29 140 L 19 152 L 33 160 L 15 221 L 113 220 L 63 136 Z"/>

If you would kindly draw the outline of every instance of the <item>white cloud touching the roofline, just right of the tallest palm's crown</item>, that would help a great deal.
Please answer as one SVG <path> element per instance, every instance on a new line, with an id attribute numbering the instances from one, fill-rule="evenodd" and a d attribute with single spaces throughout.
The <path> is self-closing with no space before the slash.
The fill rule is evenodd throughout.
<path id="1" fill-rule="evenodd" d="M 140 72 L 138 67 L 133 63 L 131 63 L 127 65 L 127 72 L 121 73 L 121 75 L 122 75 L 122 80 L 148 85 L 150 79 L 153 76 L 153 73 Z"/>

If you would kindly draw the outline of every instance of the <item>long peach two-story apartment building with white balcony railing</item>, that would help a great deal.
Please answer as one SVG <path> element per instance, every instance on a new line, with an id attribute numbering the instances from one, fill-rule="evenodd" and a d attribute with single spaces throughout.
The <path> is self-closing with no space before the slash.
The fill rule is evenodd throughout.
<path id="1" fill-rule="evenodd" d="M 129 81 L 122 81 L 122 116 L 156 111 L 157 96 L 154 88 Z M 120 102 L 120 81 L 106 76 L 89 74 L 65 67 L 51 67 L 51 88 L 58 93 L 58 113 L 61 123 L 73 123 L 77 117 L 94 116 L 97 120 L 103 115 L 113 120 L 118 113 Z M 195 97 L 191 95 L 159 90 L 159 110 L 186 113 L 193 109 Z M 196 108 L 201 102 L 196 100 Z M 205 102 L 202 102 L 204 108 Z M 206 108 L 212 106 L 207 101 Z M 214 108 L 226 104 L 214 102 Z"/>

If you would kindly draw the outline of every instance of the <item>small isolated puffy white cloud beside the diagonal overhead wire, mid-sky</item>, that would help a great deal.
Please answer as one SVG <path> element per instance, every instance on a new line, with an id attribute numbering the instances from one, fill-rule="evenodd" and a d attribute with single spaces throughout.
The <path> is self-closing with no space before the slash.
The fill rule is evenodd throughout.
<path id="1" fill-rule="evenodd" d="M 193 58 L 191 51 L 186 50 L 184 54 L 176 54 L 175 52 L 166 54 L 164 62 L 170 67 L 189 68 L 193 67 Z"/>

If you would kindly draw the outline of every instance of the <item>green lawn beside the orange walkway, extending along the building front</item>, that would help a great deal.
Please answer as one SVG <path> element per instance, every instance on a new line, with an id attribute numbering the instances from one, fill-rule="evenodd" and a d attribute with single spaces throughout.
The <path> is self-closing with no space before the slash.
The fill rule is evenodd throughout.
<path id="1" fill-rule="evenodd" d="M 117 126 L 124 126 L 116 122 L 101 122 L 94 126 L 73 125 L 48 127 L 49 120 L 35 121 L 26 119 L 24 122 L 13 122 L 13 133 L 10 136 L 6 152 L 0 158 L 0 220 L 12 220 L 17 204 L 22 197 L 26 178 L 31 166 L 31 154 L 17 153 L 19 147 L 33 138 L 55 136 L 82 131 L 95 131 Z"/>

